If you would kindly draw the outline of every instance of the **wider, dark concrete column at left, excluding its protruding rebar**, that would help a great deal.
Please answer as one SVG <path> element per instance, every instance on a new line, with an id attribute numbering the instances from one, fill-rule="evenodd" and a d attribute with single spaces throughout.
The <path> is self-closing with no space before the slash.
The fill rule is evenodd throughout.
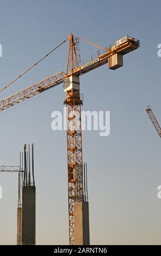
<path id="1" fill-rule="evenodd" d="M 22 189 L 22 245 L 35 245 L 36 188 Z"/>

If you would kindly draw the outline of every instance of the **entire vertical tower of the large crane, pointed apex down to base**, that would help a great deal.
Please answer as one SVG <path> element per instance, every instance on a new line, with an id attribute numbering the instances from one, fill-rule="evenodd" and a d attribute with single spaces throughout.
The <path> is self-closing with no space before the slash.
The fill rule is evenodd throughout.
<path id="1" fill-rule="evenodd" d="M 67 118 L 67 179 L 68 179 L 68 204 L 69 204 L 69 243 L 74 245 L 74 203 L 83 201 L 83 159 L 82 159 L 82 129 L 79 77 L 73 76 L 73 71 L 78 68 L 76 52 L 77 41 L 73 35 L 69 38 L 69 54 L 67 70 L 71 76 L 64 81 L 66 92 L 66 118 Z M 78 47 L 77 47 L 78 48 Z"/>

